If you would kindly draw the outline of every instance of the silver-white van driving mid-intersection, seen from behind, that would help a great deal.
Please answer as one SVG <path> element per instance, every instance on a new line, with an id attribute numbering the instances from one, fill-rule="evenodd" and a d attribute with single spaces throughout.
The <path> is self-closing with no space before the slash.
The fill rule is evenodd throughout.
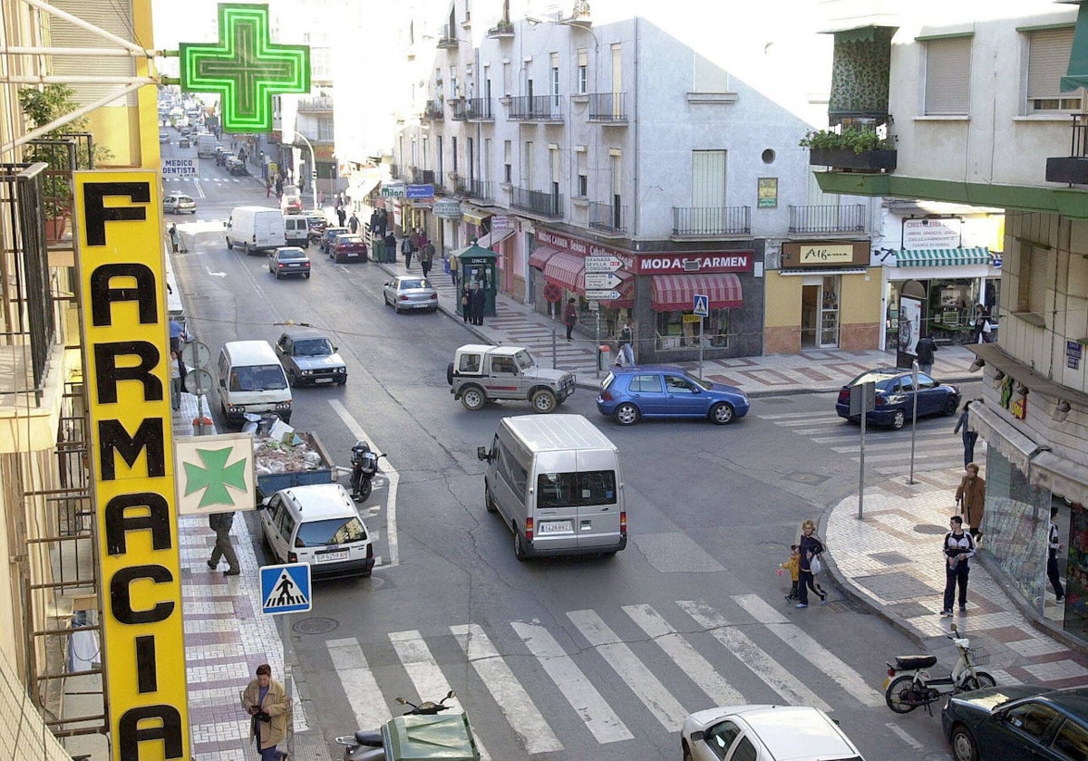
<path id="1" fill-rule="evenodd" d="M 504 417 L 477 457 L 487 511 L 514 532 L 518 560 L 627 547 L 619 450 L 582 415 Z"/>

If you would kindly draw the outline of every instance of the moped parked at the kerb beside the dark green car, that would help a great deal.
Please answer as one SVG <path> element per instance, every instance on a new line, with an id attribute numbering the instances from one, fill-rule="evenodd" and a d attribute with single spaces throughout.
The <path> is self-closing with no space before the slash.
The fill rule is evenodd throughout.
<path id="1" fill-rule="evenodd" d="M 970 640 L 960 636 L 955 624 L 952 624 L 952 634 L 948 637 L 959 650 L 960 658 L 945 677 L 934 679 L 926 671 L 937 664 L 937 656 L 897 656 L 895 664 L 888 664 L 888 678 L 885 679 L 888 708 L 895 713 L 910 713 L 925 706 L 932 715 L 932 704 L 944 695 L 997 686 L 989 672 L 975 668 L 989 663 L 989 654 L 970 647 Z M 900 673 L 905 671 L 912 673 Z"/>

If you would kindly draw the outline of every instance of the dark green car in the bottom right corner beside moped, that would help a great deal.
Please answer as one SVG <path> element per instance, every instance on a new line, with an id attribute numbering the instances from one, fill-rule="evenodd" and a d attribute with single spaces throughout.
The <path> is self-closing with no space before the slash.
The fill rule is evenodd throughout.
<path id="1" fill-rule="evenodd" d="M 953 694 L 941 726 L 955 761 L 1084 759 L 1088 688 L 1014 685 Z"/>

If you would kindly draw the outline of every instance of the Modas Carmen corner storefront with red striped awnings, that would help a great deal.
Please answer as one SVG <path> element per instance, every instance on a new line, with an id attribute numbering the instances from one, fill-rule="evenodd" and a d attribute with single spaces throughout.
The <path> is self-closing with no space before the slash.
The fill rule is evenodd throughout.
<path id="1" fill-rule="evenodd" d="M 608 286 L 591 288 L 592 299 L 586 298 L 586 257 L 622 263 L 610 277 L 591 278 Z M 573 298 L 583 335 L 615 338 L 630 319 L 639 362 L 679 362 L 696 359 L 700 341 L 708 359 L 762 353 L 763 284 L 756 259 L 751 246 L 646 253 L 537 226 L 528 269 L 537 312 L 560 320 L 561 304 Z M 694 314 L 696 296 L 706 297 L 708 317 Z"/>

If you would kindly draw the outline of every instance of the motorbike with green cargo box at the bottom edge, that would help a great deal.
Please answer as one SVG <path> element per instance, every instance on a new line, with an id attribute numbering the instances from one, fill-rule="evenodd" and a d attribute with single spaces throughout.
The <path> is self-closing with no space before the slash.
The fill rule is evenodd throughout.
<path id="1" fill-rule="evenodd" d="M 438 702 L 428 700 L 418 706 L 397 698 L 401 706 L 410 706 L 403 716 L 385 723 L 380 729 L 360 729 L 354 735 L 337 737 L 344 747 L 344 761 L 401 761 L 404 759 L 444 759 L 445 761 L 479 761 L 468 716 L 438 716 L 452 706 L 446 701 L 454 696 L 449 690 Z M 392 753 L 392 754 L 391 754 Z"/>

